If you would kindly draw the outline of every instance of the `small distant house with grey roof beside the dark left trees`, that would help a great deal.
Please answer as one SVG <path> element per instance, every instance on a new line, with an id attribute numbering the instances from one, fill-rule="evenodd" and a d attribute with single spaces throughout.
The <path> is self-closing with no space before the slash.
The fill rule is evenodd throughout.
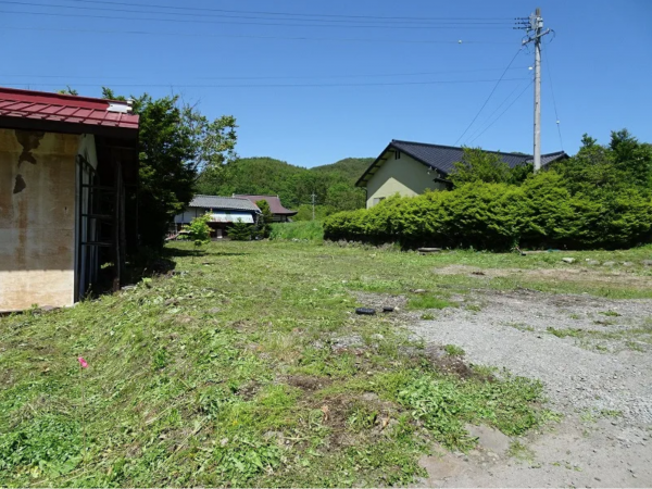
<path id="1" fill-rule="evenodd" d="M 240 197 L 195 196 L 186 210 L 174 218 L 174 234 L 190 224 L 195 217 L 211 215 L 209 226 L 213 238 L 225 238 L 228 228 L 238 221 L 254 224 L 261 210 L 249 199 Z"/>

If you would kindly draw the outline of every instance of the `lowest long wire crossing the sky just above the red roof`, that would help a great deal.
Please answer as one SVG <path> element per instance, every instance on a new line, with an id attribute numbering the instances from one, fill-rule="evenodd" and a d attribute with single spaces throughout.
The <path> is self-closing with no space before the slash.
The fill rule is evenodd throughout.
<path id="1" fill-rule="evenodd" d="M 517 82 L 526 78 L 505 78 L 504 82 Z M 455 80 L 428 80 L 428 82 L 378 82 L 378 83 L 361 83 L 361 84 L 222 84 L 222 85 L 196 85 L 196 84 L 111 84 L 111 87 L 139 87 L 139 88 L 325 88 L 325 87 L 385 87 L 385 86 L 408 86 L 408 85 L 447 85 L 447 84 L 481 84 L 491 83 L 496 79 L 455 79 Z M 41 86 L 41 87 L 53 87 L 59 86 L 54 83 L 40 83 L 33 84 L 30 82 L 13 82 L 8 86 Z M 68 82 L 67 85 L 75 87 L 102 87 L 106 84 L 77 84 Z"/>

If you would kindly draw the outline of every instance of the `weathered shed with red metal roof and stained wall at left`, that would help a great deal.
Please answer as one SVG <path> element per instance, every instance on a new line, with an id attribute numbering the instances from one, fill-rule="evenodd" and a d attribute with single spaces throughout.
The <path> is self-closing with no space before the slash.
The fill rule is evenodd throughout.
<path id="1" fill-rule="evenodd" d="M 129 103 L 0 87 L 0 311 L 118 289 L 137 188 Z"/>

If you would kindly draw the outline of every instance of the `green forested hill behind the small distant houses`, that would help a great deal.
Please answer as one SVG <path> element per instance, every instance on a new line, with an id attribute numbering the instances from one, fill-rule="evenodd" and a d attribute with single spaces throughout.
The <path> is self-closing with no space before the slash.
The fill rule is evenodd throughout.
<path id="1" fill-rule="evenodd" d="M 243 158 L 228 163 L 220 173 L 200 176 L 198 193 L 278 195 L 283 204 L 298 210 L 298 218 L 312 217 L 312 195 L 316 216 L 364 208 L 364 189 L 355 181 L 373 162 L 372 158 L 348 158 L 313 168 L 291 165 L 273 158 Z"/>

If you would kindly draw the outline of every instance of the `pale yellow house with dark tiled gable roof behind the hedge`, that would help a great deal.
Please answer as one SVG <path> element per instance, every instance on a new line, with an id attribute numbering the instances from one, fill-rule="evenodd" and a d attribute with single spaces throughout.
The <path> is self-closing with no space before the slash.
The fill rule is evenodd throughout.
<path id="1" fill-rule="evenodd" d="M 511 168 L 532 162 L 530 154 L 488 151 L 501 156 Z M 399 193 L 418 196 L 426 190 L 448 188 L 448 175 L 462 161 L 463 148 L 393 139 L 355 184 L 367 190 L 367 209 Z M 541 155 L 541 166 L 568 158 L 564 151 Z"/>

